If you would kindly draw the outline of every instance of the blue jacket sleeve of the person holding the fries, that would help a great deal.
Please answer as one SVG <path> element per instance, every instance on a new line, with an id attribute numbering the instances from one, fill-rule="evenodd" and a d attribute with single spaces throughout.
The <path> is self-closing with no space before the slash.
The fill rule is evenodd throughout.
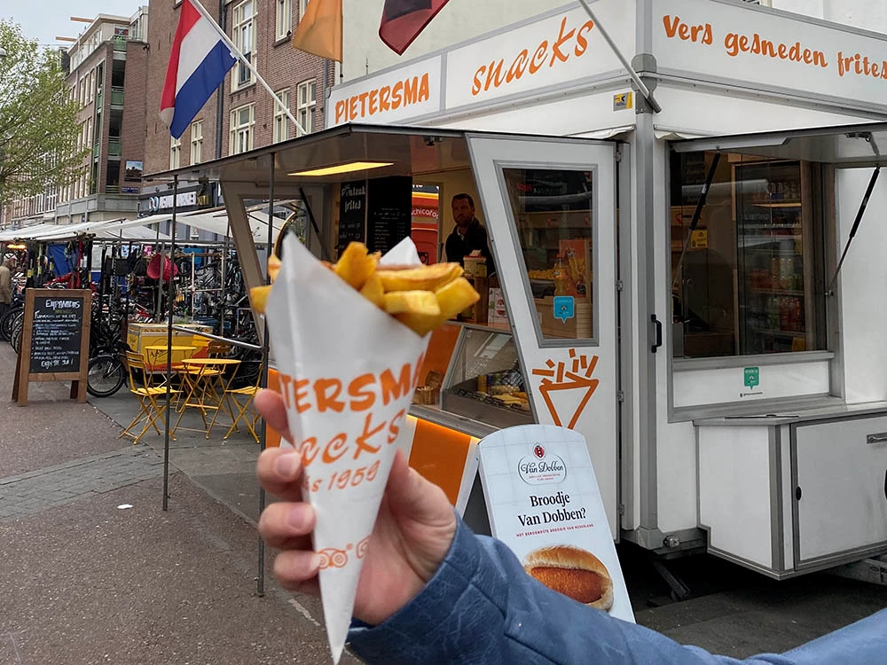
<path id="1" fill-rule="evenodd" d="M 714 656 L 614 619 L 530 578 L 505 544 L 461 520 L 428 586 L 380 626 L 352 628 L 351 650 L 373 663 L 602 665 L 883 665 L 887 610 L 781 655 Z"/>

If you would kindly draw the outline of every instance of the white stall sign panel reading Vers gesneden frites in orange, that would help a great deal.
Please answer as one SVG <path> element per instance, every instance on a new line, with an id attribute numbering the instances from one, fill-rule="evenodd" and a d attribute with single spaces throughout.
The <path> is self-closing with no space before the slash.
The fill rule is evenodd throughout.
<path id="1" fill-rule="evenodd" d="M 742 5 L 654 0 L 660 73 L 887 106 L 887 39 Z"/>

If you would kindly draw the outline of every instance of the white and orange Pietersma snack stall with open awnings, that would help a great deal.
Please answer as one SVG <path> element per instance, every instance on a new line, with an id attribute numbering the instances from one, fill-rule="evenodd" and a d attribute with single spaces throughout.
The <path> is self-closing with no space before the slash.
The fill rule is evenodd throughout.
<path id="1" fill-rule="evenodd" d="M 247 200 L 302 192 L 334 260 L 408 235 L 417 184 L 442 245 L 469 195 L 495 268 L 466 262 L 486 304 L 433 333 L 410 458 L 476 528 L 476 442 L 538 422 L 585 435 L 613 536 L 650 551 L 777 579 L 887 552 L 887 40 L 593 7 L 658 105 L 566 4 L 335 86 L 325 131 L 155 177 L 221 184 L 251 285 Z"/>

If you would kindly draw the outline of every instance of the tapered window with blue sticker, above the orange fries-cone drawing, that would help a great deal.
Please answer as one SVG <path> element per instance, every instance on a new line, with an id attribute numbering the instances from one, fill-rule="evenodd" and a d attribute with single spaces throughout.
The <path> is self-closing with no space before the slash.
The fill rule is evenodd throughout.
<path id="1" fill-rule="evenodd" d="M 543 340 L 593 340 L 594 172 L 503 168 Z"/>

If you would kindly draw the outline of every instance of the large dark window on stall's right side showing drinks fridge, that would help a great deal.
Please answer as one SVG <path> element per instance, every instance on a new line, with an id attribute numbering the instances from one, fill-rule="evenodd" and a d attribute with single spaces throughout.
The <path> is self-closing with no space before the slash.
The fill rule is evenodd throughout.
<path id="1" fill-rule="evenodd" d="M 672 153 L 674 356 L 826 348 L 825 223 L 812 192 L 821 177 L 803 161 Z"/>

